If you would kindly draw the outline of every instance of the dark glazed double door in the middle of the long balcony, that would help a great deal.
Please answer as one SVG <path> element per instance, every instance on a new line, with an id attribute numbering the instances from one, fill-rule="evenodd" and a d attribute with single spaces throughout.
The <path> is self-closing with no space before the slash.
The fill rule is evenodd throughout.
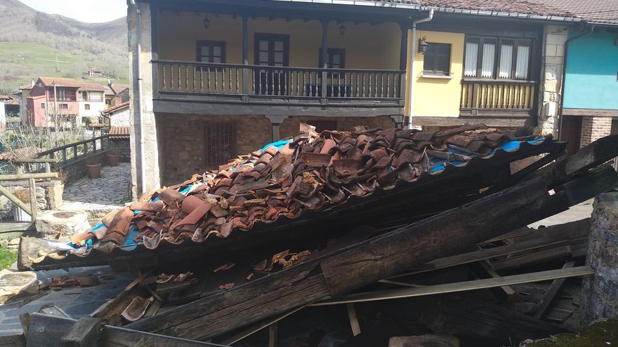
<path id="1" fill-rule="evenodd" d="M 289 35 L 256 33 L 255 62 L 265 66 L 258 70 L 256 93 L 287 95 L 287 72 L 276 67 L 289 66 Z"/>

